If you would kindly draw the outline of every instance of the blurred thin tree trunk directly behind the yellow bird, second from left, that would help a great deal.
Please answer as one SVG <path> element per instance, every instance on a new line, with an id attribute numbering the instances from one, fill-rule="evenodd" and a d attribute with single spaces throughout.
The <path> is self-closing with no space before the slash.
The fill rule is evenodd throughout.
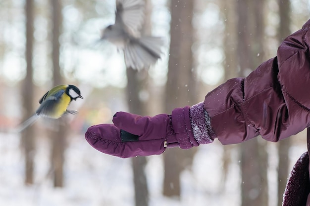
<path id="1" fill-rule="evenodd" d="M 51 0 L 52 7 L 52 68 L 53 86 L 62 83 L 59 66 L 60 43 L 59 36 L 62 28 L 61 0 Z M 59 122 L 57 120 L 57 122 Z M 52 139 L 52 171 L 54 187 L 63 186 L 64 151 L 66 148 L 66 128 L 59 124 L 57 130 L 51 131 Z"/>

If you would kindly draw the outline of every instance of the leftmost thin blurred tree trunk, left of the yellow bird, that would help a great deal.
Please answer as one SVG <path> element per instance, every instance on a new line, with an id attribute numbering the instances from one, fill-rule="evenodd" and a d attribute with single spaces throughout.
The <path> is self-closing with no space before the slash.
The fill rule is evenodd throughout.
<path id="1" fill-rule="evenodd" d="M 34 99 L 34 84 L 32 82 L 33 68 L 33 32 L 34 32 L 34 0 L 26 0 L 26 63 L 27 74 L 23 82 L 22 95 L 24 105 L 24 119 L 33 115 L 34 107 L 32 105 Z M 30 126 L 22 132 L 22 145 L 25 152 L 25 183 L 33 184 L 33 167 L 35 153 L 35 128 Z"/>

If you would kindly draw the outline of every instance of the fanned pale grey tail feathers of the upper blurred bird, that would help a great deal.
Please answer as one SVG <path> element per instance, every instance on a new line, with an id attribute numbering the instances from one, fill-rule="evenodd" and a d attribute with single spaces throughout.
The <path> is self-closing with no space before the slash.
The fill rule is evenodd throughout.
<path id="1" fill-rule="evenodd" d="M 164 41 L 159 37 L 141 37 L 130 41 L 124 48 L 127 67 L 141 70 L 155 64 L 162 54 Z"/>

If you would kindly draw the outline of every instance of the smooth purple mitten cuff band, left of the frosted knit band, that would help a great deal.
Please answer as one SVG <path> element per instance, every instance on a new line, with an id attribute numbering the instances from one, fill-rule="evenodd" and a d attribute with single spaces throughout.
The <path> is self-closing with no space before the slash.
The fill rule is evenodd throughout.
<path id="1" fill-rule="evenodd" d="M 189 110 L 189 106 L 176 108 L 171 114 L 172 127 L 181 149 L 189 149 L 194 146 L 199 146 L 194 138 Z"/>

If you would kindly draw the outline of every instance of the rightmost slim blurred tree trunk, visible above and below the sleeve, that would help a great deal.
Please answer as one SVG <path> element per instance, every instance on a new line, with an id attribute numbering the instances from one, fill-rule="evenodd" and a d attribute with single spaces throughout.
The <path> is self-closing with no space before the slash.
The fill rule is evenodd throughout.
<path id="1" fill-rule="evenodd" d="M 291 3 L 290 0 L 278 0 L 280 25 L 278 28 L 278 41 L 281 43 L 284 38 L 291 34 Z M 278 143 L 278 206 L 282 206 L 283 194 L 289 175 L 289 149 L 291 138 L 286 138 Z"/>

